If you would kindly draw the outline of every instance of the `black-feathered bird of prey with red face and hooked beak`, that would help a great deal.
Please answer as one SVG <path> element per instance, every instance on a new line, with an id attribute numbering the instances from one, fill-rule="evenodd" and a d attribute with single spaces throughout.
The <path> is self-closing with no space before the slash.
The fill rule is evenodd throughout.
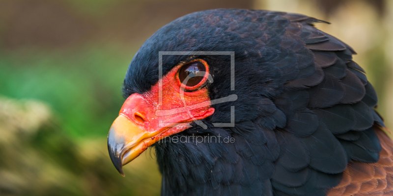
<path id="1" fill-rule="evenodd" d="M 214 9 L 161 27 L 125 75 L 108 134 L 117 171 L 150 147 L 162 196 L 392 196 L 377 94 L 317 23 Z"/>

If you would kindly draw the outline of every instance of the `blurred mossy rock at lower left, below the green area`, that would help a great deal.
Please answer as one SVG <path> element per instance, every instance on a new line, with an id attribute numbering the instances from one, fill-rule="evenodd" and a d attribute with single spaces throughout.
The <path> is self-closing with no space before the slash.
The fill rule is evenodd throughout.
<path id="1" fill-rule="evenodd" d="M 159 194 L 154 160 L 141 156 L 125 167 L 124 178 L 112 166 L 105 140 L 73 140 L 58 124 L 42 102 L 0 97 L 1 196 Z"/>

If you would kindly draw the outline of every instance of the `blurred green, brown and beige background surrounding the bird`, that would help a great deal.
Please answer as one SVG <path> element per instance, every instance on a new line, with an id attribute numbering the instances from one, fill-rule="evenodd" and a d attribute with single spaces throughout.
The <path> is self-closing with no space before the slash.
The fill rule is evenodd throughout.
<path id="1" fill-rule="evenodd" d="M 161 26 L 213 8 L 306 14 L 352 46 L 393 127 L 393 0 L 0 0 L 0 195 L 158 196 L 149 152 L 112 166 L 107 134 L 135 52 Z"/>

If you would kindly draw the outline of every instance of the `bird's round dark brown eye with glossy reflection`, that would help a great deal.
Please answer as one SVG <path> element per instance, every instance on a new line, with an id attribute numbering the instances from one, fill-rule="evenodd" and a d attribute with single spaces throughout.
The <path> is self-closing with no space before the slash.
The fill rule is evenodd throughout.
<path id="1" fill-rule="evenodd" d="M 193 61 L 183 65 L 179 70 L 179 80 L 188 87 L 197 86 L 204 78 L 206 66 L 201 61 Z M 188 81 L 184 81 L 189 76 Z M 187 82 L 187 83 L 185 83 Z"/>

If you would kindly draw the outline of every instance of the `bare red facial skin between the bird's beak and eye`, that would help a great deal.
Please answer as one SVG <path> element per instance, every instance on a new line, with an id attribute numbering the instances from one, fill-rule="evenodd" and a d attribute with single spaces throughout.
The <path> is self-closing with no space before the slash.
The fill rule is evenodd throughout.
<path id="1" fill-rule="evenodd" d="M 180 64 L 163 76 L 162 80 L 152 86 L 150 91 L 142 95 L 132 94 L 124 102 L 120 115 L 126 116 L 149 133 L 147 135 L 150 138 L 144 140 L 143 148 L 191 127 L 190 123 L 193 120 L 201 120 L 214 113 L 206 87 L 201 88 L 207 80 L 209 67 L 201 59 L 195 61 L 200 61 L 206 66 L 206 75 L 196 86 L 188 87 L 180 82 L 178 70 L 184 65 Z M 162 82 L 161 105 L 159 104 L 160 82 Z M 184 89 L 195 91 L 187 92 L 183 91 Z M 181 94 L 183 94 L 183 98 Z M 186 105 L 183 104 L 183 101 Z M 187 111 L 190 111 L 192 116 Z"/>

